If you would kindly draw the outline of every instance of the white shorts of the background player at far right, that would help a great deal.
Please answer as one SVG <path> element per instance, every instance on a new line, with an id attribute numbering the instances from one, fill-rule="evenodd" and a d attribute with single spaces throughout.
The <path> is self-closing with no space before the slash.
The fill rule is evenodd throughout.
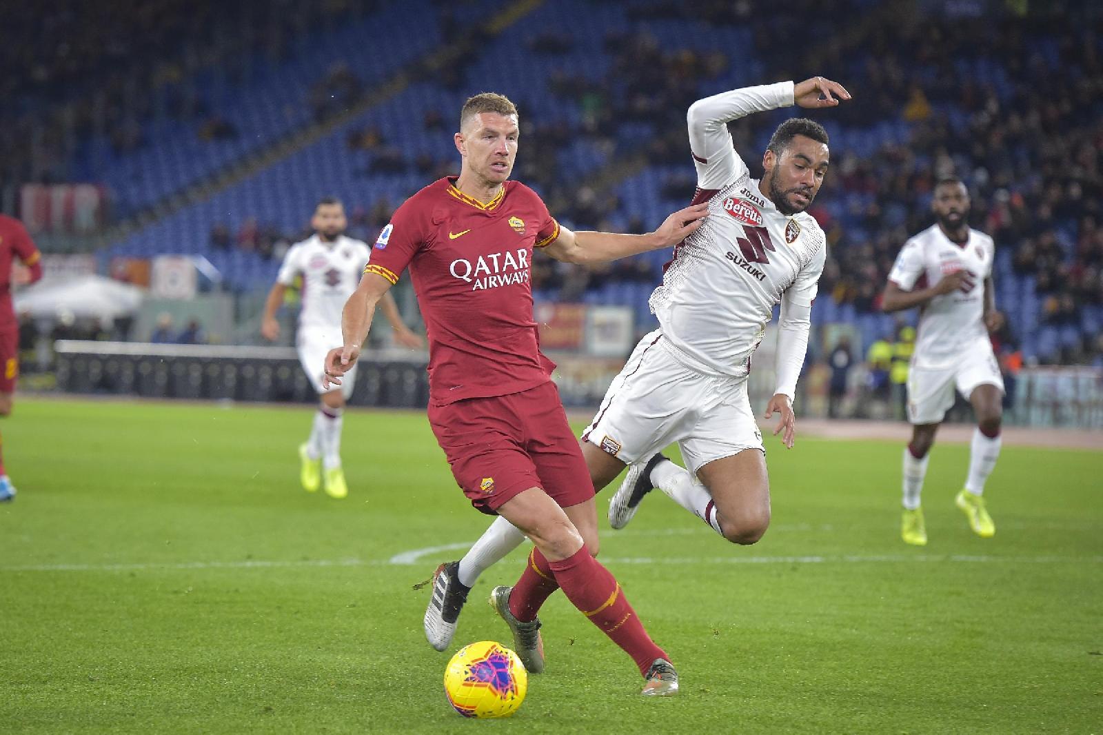
<path id="1" fill-rule="evenodd" d="M 954 405 L 954 388 L 968 400 L 978 385 L 995 385 L 1004 392 L 1004 377 L 987 340 L 976 342 L 949 368 L 917 368 L 912 361 L 908 371 L 908 422 L 942 422 Z"/>

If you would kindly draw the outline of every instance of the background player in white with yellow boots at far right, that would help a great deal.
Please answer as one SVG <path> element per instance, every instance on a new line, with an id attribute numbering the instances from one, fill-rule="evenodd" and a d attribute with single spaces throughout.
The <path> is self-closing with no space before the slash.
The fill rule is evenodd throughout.
<path id="1" fill-rule="evenodd" d="M 939 424 L 954 404 L 954 388 L 973 404 L 977 422 L 965 488 L 954 502 L 977 535 L 996 533 L 982 493 L 999 457 L 1004 398 L 1004 379 L 988 339 L 1003 323 L 992 285 L 992 237 L 968 226 L 968 190 L 960 179 L 935 184 L 931 209 L 938 222 L 904 243 L 881 305 L 885 311 L 920 308 L 908 374 L 912 432 L 903 450 L 901 523 L 904 542 L 917 546 L 927 544 L 923 476 Z"/>

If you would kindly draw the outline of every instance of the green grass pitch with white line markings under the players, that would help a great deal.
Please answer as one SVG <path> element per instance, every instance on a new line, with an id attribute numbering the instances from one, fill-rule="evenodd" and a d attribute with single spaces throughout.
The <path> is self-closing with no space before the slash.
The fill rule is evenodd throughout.
<path id="1" fill-rule="evenodd" d="M 20 398 L 0 424 L 20 488 L 0 505 L 0 732 L 1103 732 L 1099 451 L 1005 447 L 984 540 L 953 507 L 967 447 L 936 446 L 931 541 L 913 548 L 899 444 L 772 439 L 754 546 L 661 493 L 623 531 L 601 521 L 601 558 L 678 665 L 677 697 L 640 697 L 630 659 L 557 595 L 521 711 L 467 721 L 445 664 L 508 642 L 485 598 L 524 552 L 433 651 L 413 587 L 489 518 L 419 413 L 346 414 L 349 499 L 303 492 L 310 417 Z"/>

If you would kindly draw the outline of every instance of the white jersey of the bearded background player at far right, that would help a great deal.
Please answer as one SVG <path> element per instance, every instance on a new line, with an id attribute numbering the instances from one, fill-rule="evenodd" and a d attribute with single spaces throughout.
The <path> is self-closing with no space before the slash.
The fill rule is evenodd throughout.
<path id="1" fill-rule="evenodd" d="M 927 302 L 920 312 L 913 365 L 950 368 L 978 341 L 988 342 L 983 320 L 984 279 L 992 276 L 995 253 L 992 237 L 983 232 L 970 230 L 965 244 L 957 245 L 936 224 L 904 243 L 889 273 L 889 280 L 901 289 L 910 291 L 917 284 L 931 287 L 961 269 L 973 274 L 976 281 L 968 294 L 957 290 Z"/>

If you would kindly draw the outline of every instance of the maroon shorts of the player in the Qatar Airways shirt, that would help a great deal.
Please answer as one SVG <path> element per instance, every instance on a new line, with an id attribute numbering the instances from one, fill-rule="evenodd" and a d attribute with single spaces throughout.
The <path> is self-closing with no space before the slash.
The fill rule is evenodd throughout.
<path id="1" fill-rule="evenodd" d="M 590 471 L 555 383 L 490 398 L 429 405 L 429 425 L 471 504 L 494 515 L 528 488 L 560 508 L 593 497 Z"/>

